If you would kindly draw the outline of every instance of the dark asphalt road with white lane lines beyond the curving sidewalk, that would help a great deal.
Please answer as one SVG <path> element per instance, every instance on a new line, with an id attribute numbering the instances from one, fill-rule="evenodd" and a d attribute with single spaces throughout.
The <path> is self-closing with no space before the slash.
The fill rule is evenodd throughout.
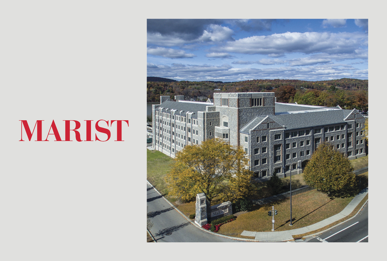
<path id="1" fill-rule="evenodd" d="M 368 242 L 368 203 L 356 217 L 318 235 L 317 237 L 311 237 L 305 241 Z"/>

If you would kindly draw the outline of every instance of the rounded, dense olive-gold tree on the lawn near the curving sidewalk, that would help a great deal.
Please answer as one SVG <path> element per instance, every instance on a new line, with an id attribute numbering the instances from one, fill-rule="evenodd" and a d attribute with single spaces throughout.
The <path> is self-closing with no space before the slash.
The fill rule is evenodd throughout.
<path id="1" fill-rule="evenodd" d="M 347 157 L 329 143 L 322 143 L 303 170 L 305 182 L 324 193 L 353 188 L 355 174 Z"/>

